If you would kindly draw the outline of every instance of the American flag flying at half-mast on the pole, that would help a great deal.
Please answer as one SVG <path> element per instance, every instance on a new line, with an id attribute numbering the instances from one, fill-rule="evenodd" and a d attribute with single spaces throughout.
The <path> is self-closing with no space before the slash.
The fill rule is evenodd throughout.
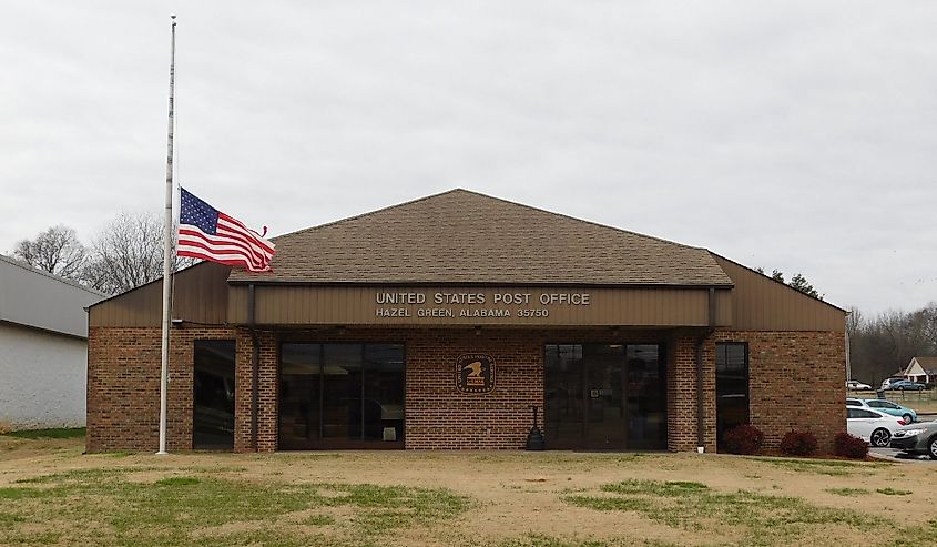
<path id="1" fill-rule="evenodd" d="M 244 266 L 248 272 L 269 271 L 275 252 L 273 243 L 185 189 L 180 190 L 176 254 Z"/>

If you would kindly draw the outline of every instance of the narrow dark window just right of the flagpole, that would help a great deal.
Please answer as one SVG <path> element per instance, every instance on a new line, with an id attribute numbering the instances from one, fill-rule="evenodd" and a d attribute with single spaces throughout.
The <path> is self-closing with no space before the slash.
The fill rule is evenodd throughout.
<path id="1" fill-rule="evenodd" d="M 234 448 L 234 341 L 194 343 L 192 446 Z"/>

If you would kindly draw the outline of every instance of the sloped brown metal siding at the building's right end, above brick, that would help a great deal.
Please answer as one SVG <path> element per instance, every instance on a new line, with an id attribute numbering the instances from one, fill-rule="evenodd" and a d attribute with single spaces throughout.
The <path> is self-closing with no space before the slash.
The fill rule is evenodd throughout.
<path id="1" fill-rule="evenodd" d="M 732 297 L 736 331 L 845 332 L 846 314 L 727 259 L 713 255 L 735 283 Z"/>

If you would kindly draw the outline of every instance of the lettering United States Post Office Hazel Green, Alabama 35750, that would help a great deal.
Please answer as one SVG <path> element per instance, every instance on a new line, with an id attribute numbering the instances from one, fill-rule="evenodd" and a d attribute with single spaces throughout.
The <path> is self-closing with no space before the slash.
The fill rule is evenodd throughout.
<path id="1" fill-rule="evenodd" d="M 374 295 L 375 317 L 421 317 L 471 321 L 518 317 L 549 317 L 551 310 L 588 308 L 588 292 L 544 291 L 378 291 Z"/>

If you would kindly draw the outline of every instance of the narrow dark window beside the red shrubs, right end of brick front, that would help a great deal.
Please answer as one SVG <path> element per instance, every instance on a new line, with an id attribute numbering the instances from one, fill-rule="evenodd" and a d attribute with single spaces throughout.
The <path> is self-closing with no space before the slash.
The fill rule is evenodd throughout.
<path id="1" fill-rule="evenodd" d="M 726 430 L 748 423 L 748 345 L 715 345 L 716 443 Z"/>

